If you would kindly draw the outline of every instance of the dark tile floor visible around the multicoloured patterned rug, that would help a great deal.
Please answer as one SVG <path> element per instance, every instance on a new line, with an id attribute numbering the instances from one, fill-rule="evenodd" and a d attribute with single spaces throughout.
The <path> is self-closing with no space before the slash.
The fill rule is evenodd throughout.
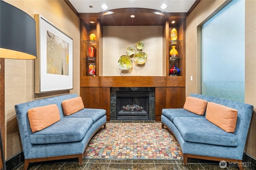
<path id="1" fill-rule="evenodd" d="M 110 123 L 160 123 L 155 121 L 110 121 Z M 23 170 L 24 163 L 14 170 Z M 184 166 L 182 160 L 84 160 L 79 166 L 78 159 L 66 159 L 30 163 L 28 170 L 238 170 L 236 166 L 221 168 L 219 162 L 189 159 Z M 244 167 L 244 170 L 251 170 Z"/>

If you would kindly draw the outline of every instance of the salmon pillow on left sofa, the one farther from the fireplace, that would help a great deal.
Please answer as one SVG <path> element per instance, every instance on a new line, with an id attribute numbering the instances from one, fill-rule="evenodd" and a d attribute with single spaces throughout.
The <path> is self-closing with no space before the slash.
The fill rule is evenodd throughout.
<path id="1" fill-rule="evenodd" d="M 60 112 L 56 104 L 34 107 L 28 110 L 28 119 L 34 133 L 59 121 Z"/>

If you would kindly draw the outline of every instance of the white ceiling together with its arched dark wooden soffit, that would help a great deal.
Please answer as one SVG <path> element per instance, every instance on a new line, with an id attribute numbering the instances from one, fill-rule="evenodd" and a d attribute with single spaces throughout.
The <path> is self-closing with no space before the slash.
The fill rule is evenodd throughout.
<path id="1" fill-rule="evenodd" d="M 66 0 L 78 17 L 87 25 L 163 25 L 186 18 L 200 0 Z M 106 4 L 108 9 L 100 6 Z M 166 9 L 161 9 L 167 4 Z M 134 15 L 134 18 L 130 16 Z M 94 21 L 94 23 L 90 23 Z"/>

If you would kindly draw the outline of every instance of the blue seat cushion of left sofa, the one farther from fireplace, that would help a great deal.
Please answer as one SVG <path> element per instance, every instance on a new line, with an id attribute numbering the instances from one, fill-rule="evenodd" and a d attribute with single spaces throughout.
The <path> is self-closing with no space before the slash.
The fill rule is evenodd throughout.
<path id="1" fill-rule="evenodd" d="M 32 133 L 30 143 L 49 144 L 81 141 L 91 125 L 91 118 L 62 118 L 42 131 Z"/>

